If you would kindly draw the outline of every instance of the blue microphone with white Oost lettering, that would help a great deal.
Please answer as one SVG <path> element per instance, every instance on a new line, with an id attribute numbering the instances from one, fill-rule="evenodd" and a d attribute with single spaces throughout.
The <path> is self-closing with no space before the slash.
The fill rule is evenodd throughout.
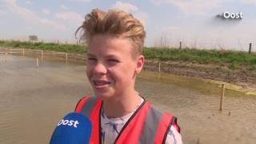
<path id="1" fill-rule="evenodd" d="M 91 122 L 81 113 L 67 114 L 54 130 L 50 144 L 86 144 L 90 141 Z"/>

